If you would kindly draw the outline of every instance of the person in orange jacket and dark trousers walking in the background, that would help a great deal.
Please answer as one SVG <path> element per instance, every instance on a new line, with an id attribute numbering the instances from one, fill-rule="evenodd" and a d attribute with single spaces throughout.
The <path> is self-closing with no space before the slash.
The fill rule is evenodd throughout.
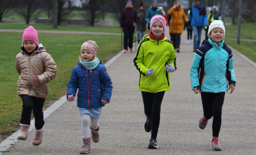
<path id="1" fill-rule="evenodd" d="M 180 6 L 179 1 L 173 3 L 173 7 L 167 12 L 167 14 L 172 16 L 170 23 L 170 36 L 173 42 L 174 49 L 177 53 L 180 52 L 180 36 L 183 32 L 183 20 L 189 24 L 189 20 L 183 8 Z"/>

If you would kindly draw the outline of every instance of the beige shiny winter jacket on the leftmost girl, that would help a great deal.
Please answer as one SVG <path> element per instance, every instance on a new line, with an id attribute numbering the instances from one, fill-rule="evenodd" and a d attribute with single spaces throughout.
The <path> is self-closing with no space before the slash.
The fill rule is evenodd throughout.
<path id="1" fill-rule="evenodd" d="M 24 51 L 16 56 L 15 61 L 19 73 L 17 92 L 37 98 L 47 98 L 48 82 L 55 78 L 57 65 L 45 48 L 34 51 L 30 56 Z M 41 85 L 37 85 L 34 77 L 37 76 Z"/>

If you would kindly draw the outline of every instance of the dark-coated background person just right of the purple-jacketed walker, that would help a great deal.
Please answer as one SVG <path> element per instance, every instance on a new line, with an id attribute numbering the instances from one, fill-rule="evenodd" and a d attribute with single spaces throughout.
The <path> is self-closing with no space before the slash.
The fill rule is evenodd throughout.
<path id="1" fill-rule="evenodd" d="M 139 11 L 138 11 L 138 23 L 136 25 L 137 28 L 137 39 L 138 43 L 140 43 L 140 40 L 142 40 L 142 37 L 144 36 L 144 32 L 146 31 L 146 11 L 144 9 L 144 5 L 141 2 L 139 6 Z"/>

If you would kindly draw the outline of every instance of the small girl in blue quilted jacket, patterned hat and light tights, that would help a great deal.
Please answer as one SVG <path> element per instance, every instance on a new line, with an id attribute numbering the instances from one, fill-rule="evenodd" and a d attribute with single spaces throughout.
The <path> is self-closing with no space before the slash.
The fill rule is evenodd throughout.
<path id="1" fill-rule="evenodd" d="M 106 67 L 96 57 L 98 49 L 95 41 L 84 42 L 81 47 L 81 58 L 73 68 L 67 89 L 67 99 L 70 102 L 74 101 L 78 89 L 77 107 L 82 119 L 84 142 L 81 154 L 87 154 L 91 150 L 90 130 L 92 141 L 97 143 L 100 140 L 101 108 L 110 101 L 113 89 Z"/>

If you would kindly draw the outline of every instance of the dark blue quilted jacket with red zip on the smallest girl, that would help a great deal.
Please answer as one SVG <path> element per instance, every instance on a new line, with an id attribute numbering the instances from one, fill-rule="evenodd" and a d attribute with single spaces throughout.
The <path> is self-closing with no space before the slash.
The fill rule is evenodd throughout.
<path id="1" fill-rule="evenodd" d="M 93 70 L 86 70 L 78 62 L 68 82 L 67 98 L 69 94 L 75 96 L 77 89 L 77 107 L 79 108 L 103 107 L 105 105 L 102 104 L 101 99 L 110 101 L 113 86 L 106 67 L 101 61 Z"/>

